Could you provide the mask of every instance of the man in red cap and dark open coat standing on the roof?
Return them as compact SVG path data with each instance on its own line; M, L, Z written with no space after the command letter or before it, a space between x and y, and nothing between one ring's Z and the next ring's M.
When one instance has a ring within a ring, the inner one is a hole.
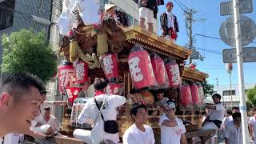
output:
M167 2L166 12L162 13L160 16L162 37L166 38L166 40L170 40L171 42L174 42L176 38L178 38L179 31L177 17L171 12L173 7L173 2Z

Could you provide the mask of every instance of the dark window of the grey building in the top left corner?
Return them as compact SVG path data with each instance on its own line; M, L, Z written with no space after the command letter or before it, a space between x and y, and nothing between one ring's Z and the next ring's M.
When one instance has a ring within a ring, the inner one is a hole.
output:
M0 2L0 30L13 26L15 0Z

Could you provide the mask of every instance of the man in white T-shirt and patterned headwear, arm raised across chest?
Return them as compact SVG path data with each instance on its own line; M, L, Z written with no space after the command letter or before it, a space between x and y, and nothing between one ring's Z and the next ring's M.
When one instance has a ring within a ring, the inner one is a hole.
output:
M181 119L176 118L176 105L173 101L168 100L164 105L164 115L159 119L161 126L161 143L162 144L186 144L186 128Z

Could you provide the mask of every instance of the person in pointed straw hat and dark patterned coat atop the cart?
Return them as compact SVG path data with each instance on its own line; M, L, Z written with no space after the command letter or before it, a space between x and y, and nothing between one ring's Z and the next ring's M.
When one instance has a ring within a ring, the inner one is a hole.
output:
M117 22L117 24L119 26L128 26L128 18L126 13L115 10L116 9L116 5L114 4L106 4L105 5L105 16L104 19L114 19L115 22Z

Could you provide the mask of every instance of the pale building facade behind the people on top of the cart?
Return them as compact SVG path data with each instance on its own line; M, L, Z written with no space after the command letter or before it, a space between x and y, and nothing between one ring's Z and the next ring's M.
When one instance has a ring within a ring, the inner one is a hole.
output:
M130 26L138 26L138 4L133 0L100 0L100 6L103 8L106 3L112 3L118 6L118 10L126 12ZM154 18L154 33L158 34L158 19Z

